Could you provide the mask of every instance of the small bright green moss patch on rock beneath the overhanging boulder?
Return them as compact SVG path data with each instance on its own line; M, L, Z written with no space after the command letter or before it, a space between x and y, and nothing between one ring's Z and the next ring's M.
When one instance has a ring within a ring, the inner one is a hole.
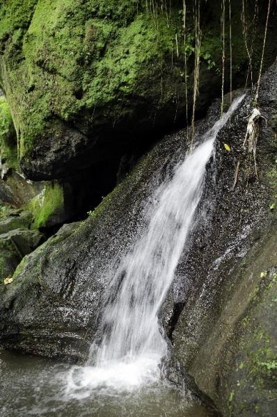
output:
M63 213L63 186L58 181L49 181L45 189L24 206L33 213L34 221L31 229L47 227L49 218Z

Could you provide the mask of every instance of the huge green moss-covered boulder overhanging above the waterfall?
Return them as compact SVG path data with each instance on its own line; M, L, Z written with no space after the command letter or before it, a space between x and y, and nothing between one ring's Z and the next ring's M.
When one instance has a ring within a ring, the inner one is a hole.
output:
M231 3L235 85L244 82L248 57L240 2ZM137 0L0 1L0 85L17 131L19 163L28 177L66 177L186 122L184 51L191 113L195 34L193 5L188 2L184 46L182 4L177 0L155 6ZM252 6L246 10L249 31ZM254 78L267 12L262 2L259 10ZM203 1L201 16L197 108L205 111L221 89L220 2ZM270 24L265 67L276 56L274 33Z

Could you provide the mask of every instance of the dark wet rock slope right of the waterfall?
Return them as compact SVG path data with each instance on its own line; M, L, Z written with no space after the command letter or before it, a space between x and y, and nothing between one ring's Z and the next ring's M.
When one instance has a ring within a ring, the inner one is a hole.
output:
M258 100L267 121L276 111L276 82L274 65L262 79ZM208 174L205 191L212 205L205 206L203 200L209 222L198 223L189 262L180 262L180 279L168 297L170 302L181 294L186 302L172 335L173 352L224 416L274 415L276 409L271 399L277 386L270 368L277 354L270 322L276 320L276 214L270 206L276 199L277 147L274 126L260 120L257 177L253 155L242 148L244 117L251 114L254 98L255 88L219 134L216 179L213 183ZM224 143L231 152L225 151ZM199 254L203 236L208 245Z

